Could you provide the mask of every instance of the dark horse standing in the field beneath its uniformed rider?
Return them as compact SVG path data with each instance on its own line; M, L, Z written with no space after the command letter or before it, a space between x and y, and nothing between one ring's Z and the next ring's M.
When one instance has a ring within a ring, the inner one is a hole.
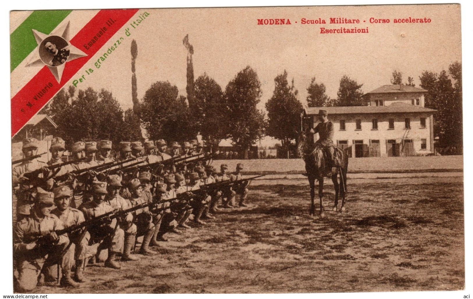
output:
M306 163L307 179L309 180L310 186L310 216L315 215L315 179L319 182L319 198L320 198L320 217L324 217L324 206L322 205L322 196L324 192L324 177L327 176L329 171L325 167L325 154L320 146L315 145L315 149L308 145L306 135L301 132L298 138L298 155L299 158L303 158ZM342 196L342 206L340 211L344 212L345 208L345 196L347 192L347 171L348 171L348 155L340 147L335 146L334 160L338 161L337 166L330 170L330 178L333 181L333 187L335 188L335 203L333 205L333 211L338 210L338 199L339 195Z

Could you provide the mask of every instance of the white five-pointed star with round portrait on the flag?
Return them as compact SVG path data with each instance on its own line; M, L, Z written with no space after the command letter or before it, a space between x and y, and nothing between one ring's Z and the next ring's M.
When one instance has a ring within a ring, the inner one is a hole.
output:
M56 28L47 35L32 29L38 46L27 67L46 65L56 80L61 82L62 72L66 62L87 56L86 53L70 44L69 22L61 28Z

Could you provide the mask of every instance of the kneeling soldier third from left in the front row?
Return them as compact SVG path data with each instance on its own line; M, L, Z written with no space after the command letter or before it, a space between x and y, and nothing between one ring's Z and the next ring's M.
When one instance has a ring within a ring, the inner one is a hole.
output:
M86 220L114 211L113 207L105 202L105 196L108 194L106 182L93 182L92 191L93 200L83 203L79 207ZM118 253L122 252L124 232L120 228L119 223L117 223L117 220L105 221L100 227L90 228L89 232L94 243L102 243L100 245L108 249L105 267L120 269L121 266L115 261L115 257Z

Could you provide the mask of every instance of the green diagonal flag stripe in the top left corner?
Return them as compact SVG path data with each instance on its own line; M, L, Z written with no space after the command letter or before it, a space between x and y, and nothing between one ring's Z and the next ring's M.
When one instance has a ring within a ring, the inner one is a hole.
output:
M50 34L72 10L36 10L10 34L10 73L35 50L37 44L32 29Z

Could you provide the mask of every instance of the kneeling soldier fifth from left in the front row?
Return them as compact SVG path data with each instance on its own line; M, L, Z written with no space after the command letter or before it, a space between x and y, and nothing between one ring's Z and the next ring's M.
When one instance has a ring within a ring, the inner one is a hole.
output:
M151 204L148 198L143 195L143 185L139 179L132 179L129 183L129 189L131 191L131 197L127 199L130 207L143 204ZM149 211L149 207L141 208L133 212L133 222L136 224L137 233L136 236L143 236L143 242L141 243L140 254L150 255L157 254L156 251L149 249L149 243L154 233L153 215Z

